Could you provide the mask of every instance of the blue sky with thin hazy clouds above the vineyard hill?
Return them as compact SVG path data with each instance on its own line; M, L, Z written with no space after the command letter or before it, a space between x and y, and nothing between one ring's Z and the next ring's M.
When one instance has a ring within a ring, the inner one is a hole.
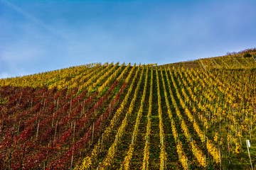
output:
M0 78L256 47L256 1L0 0Z

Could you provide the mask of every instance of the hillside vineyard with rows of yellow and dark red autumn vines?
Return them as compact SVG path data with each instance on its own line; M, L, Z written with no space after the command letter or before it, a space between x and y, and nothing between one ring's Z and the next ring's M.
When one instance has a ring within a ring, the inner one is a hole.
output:
M0 79L0 169L253 169L255 68L225 56Z

